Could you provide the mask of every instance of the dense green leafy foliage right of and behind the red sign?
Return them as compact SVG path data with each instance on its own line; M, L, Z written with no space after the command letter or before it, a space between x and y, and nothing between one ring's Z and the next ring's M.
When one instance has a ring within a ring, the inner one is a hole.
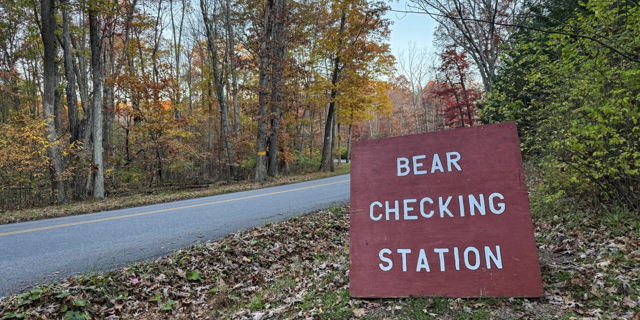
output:
M572 30L640 48L640 6L586 1ZM566 26L558 26L566 31ZM567 195L640 209L640 63L584 37L525 31L483 113L518 122L522 147ZM627 50L627 49L625 49Z

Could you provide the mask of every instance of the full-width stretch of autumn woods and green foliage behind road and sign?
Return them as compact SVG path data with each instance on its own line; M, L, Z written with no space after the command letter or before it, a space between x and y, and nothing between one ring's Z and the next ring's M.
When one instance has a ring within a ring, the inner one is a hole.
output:
M393 53L388 10L1 1L0 208L333 171L353 140L504 120L558 193L638 208L636 1L413 0L434 51Z

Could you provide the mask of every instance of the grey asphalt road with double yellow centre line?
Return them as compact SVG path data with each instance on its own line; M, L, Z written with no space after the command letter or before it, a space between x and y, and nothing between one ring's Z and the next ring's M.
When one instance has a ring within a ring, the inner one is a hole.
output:
M0 296L106 271L349 201L349 175L191 200L0 225Z

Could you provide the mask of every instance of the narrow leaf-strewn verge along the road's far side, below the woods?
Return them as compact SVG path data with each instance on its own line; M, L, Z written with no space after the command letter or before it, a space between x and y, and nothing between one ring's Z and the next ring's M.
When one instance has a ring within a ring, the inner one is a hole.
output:
M140 205L160 204L163 202L200 198L202 196L222 195L225 193L233 193L238 191L281 186L283 184L291 184L295 182L333 177L335 175L349 173L350 171L351 164L343 163L340 166L337 166L335 172L314 172L306 173L303 175L284 175L276 179L268 179L264 182L252 182L250 180L244 180L239 182L215 184L209 186L208 188L201 189L189 189L182 191L156 191L149 194L145 193L127 196L114 196L102 200L86 200L70 204L50 205L47 207L30 208L17 211L0 211L0 225L6 223L41 220L62 216L74 216L76 214L85 214L90 212L125 209L138 207Z

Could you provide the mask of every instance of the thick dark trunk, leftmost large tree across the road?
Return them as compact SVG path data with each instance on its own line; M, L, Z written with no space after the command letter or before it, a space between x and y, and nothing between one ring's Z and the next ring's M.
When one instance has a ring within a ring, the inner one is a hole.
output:
M54 36L54 28L56 22L54 20L55 0L42 0L40 9L42 14L42 44L44 46L44 84L42 94L42 111L47 126L45 127L45 135L49 142L47 147L47 156L53 162L51 168L51 188L56 194L56 202L62 204L65 202L65 184L62 180L63 164L62 154L58 147L58 135L56 134L56 124L54 117L54 100L56 91L56 43Z

